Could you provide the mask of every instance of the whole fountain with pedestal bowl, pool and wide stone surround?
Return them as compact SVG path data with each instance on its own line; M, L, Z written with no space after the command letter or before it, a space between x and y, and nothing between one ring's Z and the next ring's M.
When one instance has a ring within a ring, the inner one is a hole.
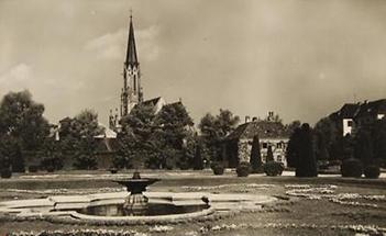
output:
M0 202L0 215L12 221L46 218L69 224L168 224L216 218L217 213L260 209L275 201L275 198L256 194L146 192L146 188L159 179L141 178L137 171L131 179L112 181L124 186L126 191Z

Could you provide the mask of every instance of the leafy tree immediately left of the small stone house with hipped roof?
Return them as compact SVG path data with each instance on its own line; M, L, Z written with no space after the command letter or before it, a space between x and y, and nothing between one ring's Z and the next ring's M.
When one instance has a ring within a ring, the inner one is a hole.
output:
M212 161L222 160L222 142L231 132L233 132L240 122L240 117L233 115L229 110L220 109L220 113L213 116L207 113L201 120L198 127L201 131L203 146L208 149L209 158Z

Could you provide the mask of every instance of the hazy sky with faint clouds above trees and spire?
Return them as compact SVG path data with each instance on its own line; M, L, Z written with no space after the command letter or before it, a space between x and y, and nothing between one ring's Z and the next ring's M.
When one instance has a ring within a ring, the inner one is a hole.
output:
M383 0L0 0L0 98L27 89L53 123L119 108L130 10L145 99L315 123L386 98Z

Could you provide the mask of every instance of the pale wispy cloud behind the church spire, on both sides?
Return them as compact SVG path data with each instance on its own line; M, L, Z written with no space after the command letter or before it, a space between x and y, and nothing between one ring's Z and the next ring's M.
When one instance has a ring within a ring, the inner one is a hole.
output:
M158 32L156 25L134 32L140 59L151 61L158 57L159 47L156 43ZM99 59L122 59L126 50L126 41L128 30L120 29L87 42L85 48L95 53Z

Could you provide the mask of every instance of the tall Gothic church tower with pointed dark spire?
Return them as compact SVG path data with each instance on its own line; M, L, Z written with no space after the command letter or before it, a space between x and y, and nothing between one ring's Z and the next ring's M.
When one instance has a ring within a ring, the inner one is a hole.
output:
M129 41L123 64L123 88L121 91L121 116L128 115L135 104L143 101L140 63L136 56L134 26L130 15Z

